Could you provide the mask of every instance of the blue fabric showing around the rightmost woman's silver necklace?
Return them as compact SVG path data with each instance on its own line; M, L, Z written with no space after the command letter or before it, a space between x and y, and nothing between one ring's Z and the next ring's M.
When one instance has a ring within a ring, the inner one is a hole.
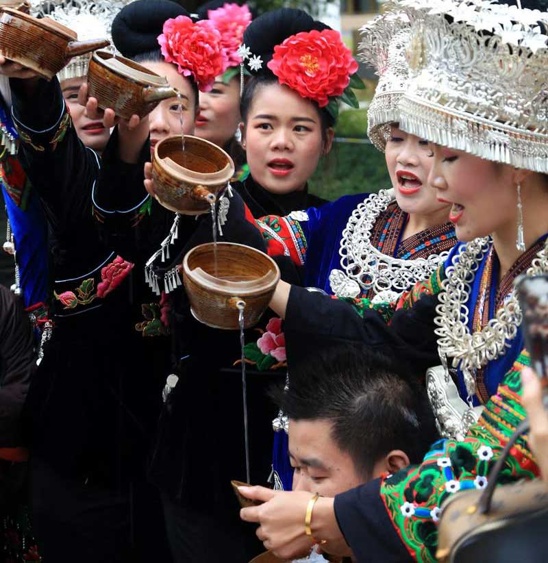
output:
M541 239L544 240L546 235ZM451 249L447 260L445 261L445 268L448 268L453 264L453 256L460 252L460 249L465 245L464 242L459 242L457 245ZM466 303L468 310L469 310L469 319L468 319L468 328L472 331L472 323L473 323L473 312L475 308L475 303L477 299L479 299L479 286L482 281L482 275L484 273L486 264L487 264L487 257L488 253L486 252L484 258L479 264L477 268L477 272L475 273L474 281L471 286L471 292L468 303ZM499 279L499 260L495 254L493 260L493 279ZM497 296L497 286L498 284L492 284L490 288L490 295L489 295L489 318L494 318L496 314L496 296ZM516 358L519 356L520 352L523 350L524 341L523 341L523 334L521 331L521 327L518 329L516 334L516 338L510 342L510 347L508 347L506 353L501 355L496 360L491 360L489 364L484 368L484 384L487 388L489 396L495 395L497 392L497 387L499 383L502 381L504 375L510 368L512 368L512 364L516 361ZM468 393L466 392L466 385L464 384L464 376L462 375L462 371L460 368L457 370L458 373L458 390L460 393L460 397L466 401L466 397ZM479 405L480 402L477 397L474 395L473 397L474 405Z

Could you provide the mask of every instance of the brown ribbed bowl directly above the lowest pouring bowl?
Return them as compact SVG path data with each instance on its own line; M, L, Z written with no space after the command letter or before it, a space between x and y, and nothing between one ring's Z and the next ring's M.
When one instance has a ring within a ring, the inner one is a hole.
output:
M162 139L154 147L152 176L158 201L171 211L187 215L208 212L211 203L234 175L234 162L214 143L184 136Z

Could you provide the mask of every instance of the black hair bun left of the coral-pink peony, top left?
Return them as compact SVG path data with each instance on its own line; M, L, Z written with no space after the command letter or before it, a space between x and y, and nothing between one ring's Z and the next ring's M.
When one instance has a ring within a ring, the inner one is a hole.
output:
M171 0L136 0L122 8L112 22L112 42L125 57L159 51L164 21L190 14Z

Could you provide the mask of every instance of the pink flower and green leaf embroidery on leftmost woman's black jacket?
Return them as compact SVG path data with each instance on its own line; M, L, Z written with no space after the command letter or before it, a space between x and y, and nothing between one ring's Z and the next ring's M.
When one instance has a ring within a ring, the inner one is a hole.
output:
M101 268L101 282L95 290L95 279L88 277L75 291L66 290L60 294L53 292L55 299L60 301L64 309L75 309L78 305L89 305L95 299L104 299L116 289L132 271L134 264L116 256L110 264Z

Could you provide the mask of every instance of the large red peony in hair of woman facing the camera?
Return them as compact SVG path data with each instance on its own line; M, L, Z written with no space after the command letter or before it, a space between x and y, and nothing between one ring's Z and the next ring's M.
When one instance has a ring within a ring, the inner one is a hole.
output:
M303 98L318 102L320 108L330 97L343 95L358 63L334 29L322 32L313 29L288 37L274 47L274 56L267 65L278 77Z

